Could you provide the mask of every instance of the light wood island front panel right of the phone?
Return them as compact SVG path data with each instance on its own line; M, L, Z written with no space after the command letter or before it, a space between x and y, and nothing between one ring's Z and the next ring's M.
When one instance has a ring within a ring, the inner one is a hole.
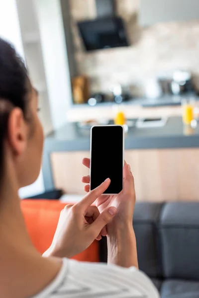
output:
M126 151L137 200L199 200L199 149Z

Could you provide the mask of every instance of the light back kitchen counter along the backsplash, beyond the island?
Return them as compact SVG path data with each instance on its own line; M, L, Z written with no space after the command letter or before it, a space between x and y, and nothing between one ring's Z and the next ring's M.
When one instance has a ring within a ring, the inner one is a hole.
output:
M128 119L151 116L179 117L182 115L181 100L186 97L192 97L196 102L199 100L196 94L190 94L185 97L166 95L158 99L134 98L121 104L114 102L103 102L95 106L77 104L71 105L67 110L66 119L68 122L114 119L118 110L123 111Z

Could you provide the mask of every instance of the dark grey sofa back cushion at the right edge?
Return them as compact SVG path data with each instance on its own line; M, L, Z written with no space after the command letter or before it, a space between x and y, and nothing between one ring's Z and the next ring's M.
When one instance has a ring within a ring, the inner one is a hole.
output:
M168 203L160 220L165 278L199 280L199 203Z

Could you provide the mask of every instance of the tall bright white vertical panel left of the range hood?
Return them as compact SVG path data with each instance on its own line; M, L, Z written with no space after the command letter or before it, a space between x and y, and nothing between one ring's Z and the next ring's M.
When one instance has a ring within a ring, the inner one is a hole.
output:
M34 0L53 128L66 123L72 103L71 79L60 0Z

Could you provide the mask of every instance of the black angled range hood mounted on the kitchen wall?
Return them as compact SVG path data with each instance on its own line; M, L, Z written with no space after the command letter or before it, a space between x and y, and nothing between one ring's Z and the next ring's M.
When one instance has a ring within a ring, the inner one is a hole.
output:
M78 23L85 49L99 49L128 46L123 20L115 14L114 0L96 0L97 15L95 20Z

